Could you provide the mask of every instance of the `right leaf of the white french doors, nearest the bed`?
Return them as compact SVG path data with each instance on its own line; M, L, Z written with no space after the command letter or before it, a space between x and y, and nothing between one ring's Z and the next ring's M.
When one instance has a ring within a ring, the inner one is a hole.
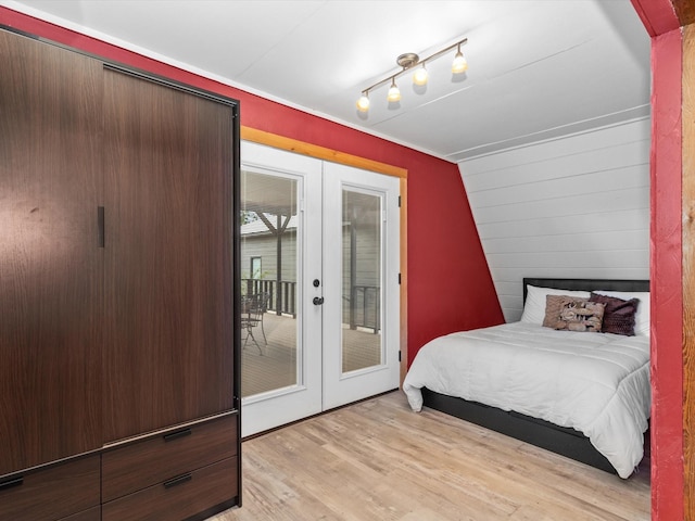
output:
M324 171L324 408L399 386L399 179Z

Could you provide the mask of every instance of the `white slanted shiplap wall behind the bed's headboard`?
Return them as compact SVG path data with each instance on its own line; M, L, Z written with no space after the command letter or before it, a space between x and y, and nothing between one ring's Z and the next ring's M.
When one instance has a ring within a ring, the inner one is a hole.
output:
M649 127L631 120L459 163L506 321L523 277L649 277Z

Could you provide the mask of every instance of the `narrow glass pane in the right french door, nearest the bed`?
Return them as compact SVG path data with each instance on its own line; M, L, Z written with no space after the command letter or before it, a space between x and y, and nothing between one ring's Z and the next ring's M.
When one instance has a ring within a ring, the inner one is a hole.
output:
M381 198L342 192L342 372L382 364Z

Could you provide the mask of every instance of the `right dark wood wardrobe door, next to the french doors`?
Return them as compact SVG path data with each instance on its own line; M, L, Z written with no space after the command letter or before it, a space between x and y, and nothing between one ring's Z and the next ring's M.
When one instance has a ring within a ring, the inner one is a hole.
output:
M106 68L105 441L232 407L233 109Z

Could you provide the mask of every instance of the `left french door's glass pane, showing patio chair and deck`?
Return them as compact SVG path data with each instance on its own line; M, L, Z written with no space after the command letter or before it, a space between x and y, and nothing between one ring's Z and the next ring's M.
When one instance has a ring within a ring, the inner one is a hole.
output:
M298 181L241 173L241 395L300 382Z

